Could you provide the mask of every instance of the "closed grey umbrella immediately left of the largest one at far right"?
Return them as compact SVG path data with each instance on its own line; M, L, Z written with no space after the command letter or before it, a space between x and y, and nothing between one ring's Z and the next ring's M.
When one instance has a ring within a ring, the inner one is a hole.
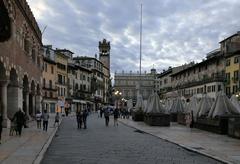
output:
M201 101L199 102L197 117L207 115L212 106L212 100L204 94Z

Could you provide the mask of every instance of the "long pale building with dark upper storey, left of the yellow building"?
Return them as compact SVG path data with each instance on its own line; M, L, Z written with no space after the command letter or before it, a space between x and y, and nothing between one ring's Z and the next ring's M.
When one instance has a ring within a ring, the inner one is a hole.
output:
M219 49L208 53L202 62L172 74L172 91L167 94L190 98L206 93L216 98L217 92L224 90L224 62Z

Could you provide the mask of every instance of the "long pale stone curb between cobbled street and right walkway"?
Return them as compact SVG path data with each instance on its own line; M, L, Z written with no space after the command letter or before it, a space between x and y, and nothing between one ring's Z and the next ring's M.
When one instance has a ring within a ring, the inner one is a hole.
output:
M122 122L121 120L119 120L119 122L121 122L121 123L124 124L125 126L128 126L128 127L133 128L133 129L137 129L137 130L144 131L144 130L142 130L142 129L140 129L140 128L134 127L133 125L129 125L129 124L125 123L125 122ZM199 154L201 154L201 155L207 156L207 157L209 157L209 158L215 159L215 160L217 160L217 161L219 161L219 162L222 162L222 163L225 163L225 164L234 164L234 163L232 163L232 162L230 162L230 161L224 160L224 159L219 158L219 157L214 156L214 155L207 154L207 153L202 152L202 151L197 150L197 149L190 148L190 147L188 147L188 146L186 146L186 145L179 144L179 143L174 142L174 141L171 141L171 140L169 140L169 139L167 139L167 138L159 137L159 136L157 136L157 135L155 135L155 134L152 134L152 133L150 133L150 132L146 132L146 131L144 131L144 132L145 132L146 134L151 135L151 136L160 138L160 139L162 139L162 140L164 140L164 141L167 141L167 142L170 142L170 143L175 144L175 145L177 145L177 146L180 146L180 147L182 147L182 148L184 148L184 149L186 149L186 150L188 150L188 151L195 152L195 153L199 153Z

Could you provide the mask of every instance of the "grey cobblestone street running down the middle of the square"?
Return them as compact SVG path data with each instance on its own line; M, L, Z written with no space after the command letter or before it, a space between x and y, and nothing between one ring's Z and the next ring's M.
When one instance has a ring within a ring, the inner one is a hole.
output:
M42 164L207 164L220 163L142 131L88 117L88 129L76 128L75 117L64 118Z

